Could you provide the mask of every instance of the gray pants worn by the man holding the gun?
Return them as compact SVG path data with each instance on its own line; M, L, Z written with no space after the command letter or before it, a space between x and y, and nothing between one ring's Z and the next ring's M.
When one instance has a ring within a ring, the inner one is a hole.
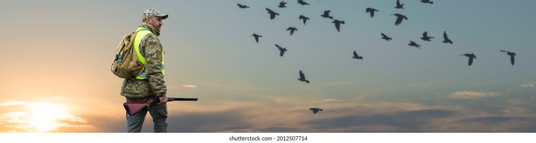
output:
M147 101L150 97L129 98L126 97L126 102L133 101ZM125 133L139 133L142 131L143 122L145 121L145 115L147 111L153 117L154 132L166 133L167 132L167 104L159 104L154 106L151 104L149 108L139 111L137 114L130 116L126 113L126 127Z

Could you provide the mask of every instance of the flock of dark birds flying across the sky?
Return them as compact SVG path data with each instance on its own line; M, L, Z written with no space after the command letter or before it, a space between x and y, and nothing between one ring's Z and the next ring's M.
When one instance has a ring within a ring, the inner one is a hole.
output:
M428 4L434 4L434 2L430 1L430 0L421 0L420 2L422 3L428 3ZM301 4L301 5L310 5L309 3L307 2L304 2L303 0L297 0L297 3ZM284 7L287 7L286 6L287 2L285 1L281 1L278 5L278 7L280 8L284 8ZM246 9L246 8L250 8L249 6L247 5L244 5L244 4L237 4L241 9ZM396 1L396 5L394 6L395 9L404 9L404 4L401 4L400 3L400 0L397 0ZM269 9L269 8L265 8L267 13L269 13L270 15L270 19L274 19L276 18L277 16L279 16L279 13ZM335 28L337 29L337 32L340 32L340 25L341 24L345 24L344 20L338 20L338 19L334 19L333 16L330 16L330 10L325 10L323 12L323 14L321 14L320 16L323 17L323 18L329 18L329 19L333 19L332 23L334 24ZM366 13L370 13L370 17L373 18L374 17L374 13L375 12L379 12L378 10L376 9L373 9L373 8L370 8L370 7L367 7L367 9L365 10ZM394 25L397 26L397 25L400 25L402 23L403 20L408 20L408 18L403 15L403 14L399 14L399 13L394 13L394 14L390 14L391 16L396 16L396 20L394 22ZM307 20L310 20L308 17L306 16L303 16L303 15L300 15L298 17L300 20L303 21L303 25L306 25L307 23ZM287 28L287 31L290 31L290 35L292 36L294 34L295 31L297 31L297 28L295 27L288 27ZM391 37L385 35L384 33L381 33L382 37L381 39L384 39L386 41L389 41L389 40L392 40ZM259 42L259 37L262 37L262 35L258 35L256 33L254 33L252 36L255 37L255 41L258 43ZM431 41L431 39L434 39L434 37L431 37L431 36L428 36L428 32L424 32L422 33L422 37L420 38L421 40L423 41ZM447 36L446 34L446 31L443 32L443 43L450 43L452 44L452 40L449 39L449 37ZM420 44L417 44L416 42L414 41L410 41L410 43L408 43L409 46L412 46L412 47L416 47L416 48L419 48L420 49ZM285 51L287 51L286 48L283 48L281 46L279 46L278 44L275 44L275 46L278 48L278 50L280 51L280 56L282 57L284 54L285 54ZM510 56L510 62L511 64L513 65L514 64L514 56L516 56L516 54L514 52L510 52L510 51L504 51L504 50L500 50L502 52L507 52L507 55ZM463 54L463 55L460 55L460 56L466 56L468 57L468 65L471 66L473 64L473 60L477 58L477 56L475 56L473 53L471 54ZM358 53L354 50L353 52L353 57L352 58L355 58L355 59L363 59L362 56L359 56ZM307 80L305 78L305 74L300 70L299 72L299 76L300 78L298 78L299 81L303 81L303 82L307 82L309 83L310 81ZM323 109L319 109L319 108L309 108L309 110L312 110L314 114L316 114L318 111L323 111Z

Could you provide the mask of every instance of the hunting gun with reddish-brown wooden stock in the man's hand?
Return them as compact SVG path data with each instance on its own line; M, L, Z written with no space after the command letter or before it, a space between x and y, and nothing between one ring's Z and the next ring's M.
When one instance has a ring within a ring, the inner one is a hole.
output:
M169 101L197 101L197 98L181 98L181 97L168 97ZM157 96L152 97L147 101L135 101L135 102L125 102L123 106L125 107L126 112L132 116L137 114L140 110L148 108L149 104L157 105L160 102L160 99Z

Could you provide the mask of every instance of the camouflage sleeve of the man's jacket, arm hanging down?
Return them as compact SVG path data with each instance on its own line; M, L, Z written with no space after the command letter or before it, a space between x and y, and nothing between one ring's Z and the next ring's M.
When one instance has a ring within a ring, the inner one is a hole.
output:
M145 71L149 85L155 95L165 95L167 87L162 75L162 44L154 34L147 34L142 41L145 46Z

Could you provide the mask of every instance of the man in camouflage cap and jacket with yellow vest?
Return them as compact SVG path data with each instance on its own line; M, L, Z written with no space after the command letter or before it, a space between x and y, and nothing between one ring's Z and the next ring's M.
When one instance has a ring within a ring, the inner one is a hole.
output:
M135 78L126 78L121 86L121 95L126 97L126 102L147 101L151 97L158 96L158 105L151 104L149 108L139 111L130 116L126 114L125 132L140 132L147 111L151 114L154 122L154 132L167 132L167 87L163 80L164 76L164 52L162 44L157 36L160 35L162 20L168 18L157 9L145 10L142 23L137 29L138 33L134 40L134 46L138 58L144 64L143 73Z

